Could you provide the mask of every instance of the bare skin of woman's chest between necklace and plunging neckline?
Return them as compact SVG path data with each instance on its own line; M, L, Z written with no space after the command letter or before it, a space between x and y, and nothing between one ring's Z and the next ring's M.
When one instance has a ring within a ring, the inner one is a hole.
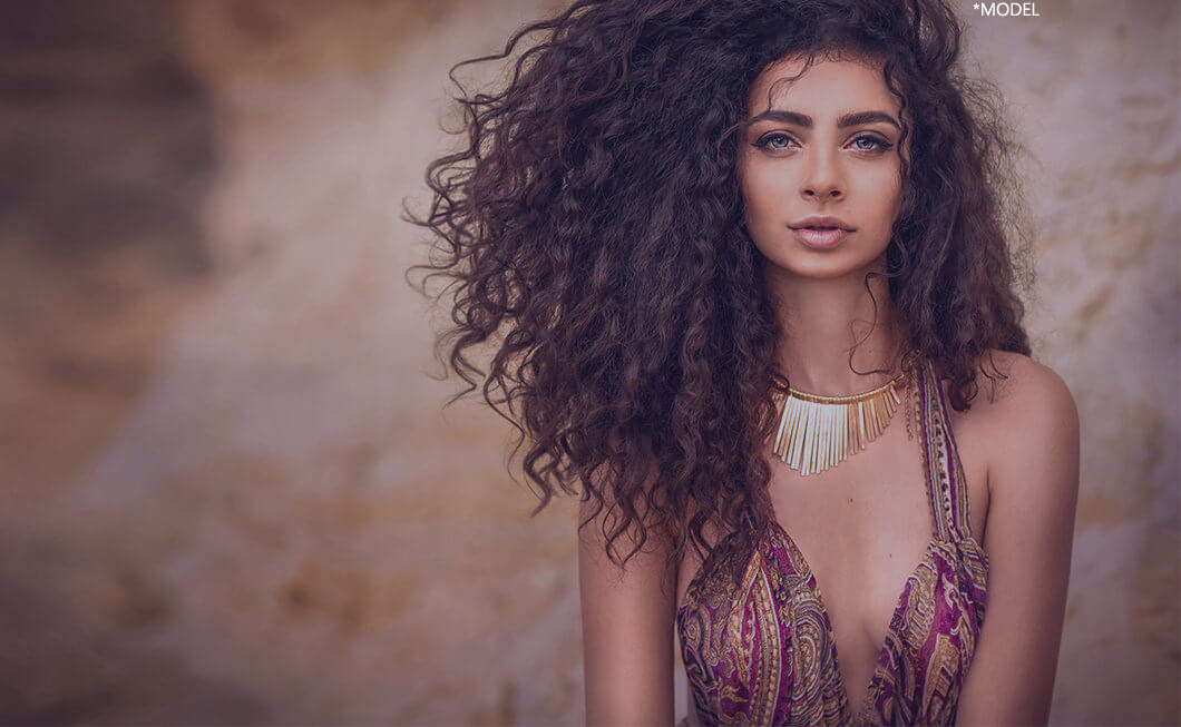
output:
M837 693L850 701L870 699L880 686L880 657L889 647L899 609L909 610L913 595L907 594L919 587L915 578L932 572L931 549L941 546L941 533L946 537L953 519L941 499L952 491L950 476L954 490L966 495L960 528L984 544L988 437L976 418L941 411L950 437L932 439L934 419L926 437L918 423L899 423L837 466L809 476L774 457L770 446L764 451L777 530L792 554L794 570L813 583L808 595L828 622L829 641L840 643L834 679L841 685ZM696 554L685 561L678 604L702 566ZM929 601L927 605L933 608Z

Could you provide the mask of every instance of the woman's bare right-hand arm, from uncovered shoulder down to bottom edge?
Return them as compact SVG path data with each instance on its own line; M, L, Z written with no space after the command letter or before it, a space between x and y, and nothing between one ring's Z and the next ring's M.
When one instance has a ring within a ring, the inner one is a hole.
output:
M988 596L958 723L1046 723L1078 499L1078 411L1062 379L1012 356L991 413Z

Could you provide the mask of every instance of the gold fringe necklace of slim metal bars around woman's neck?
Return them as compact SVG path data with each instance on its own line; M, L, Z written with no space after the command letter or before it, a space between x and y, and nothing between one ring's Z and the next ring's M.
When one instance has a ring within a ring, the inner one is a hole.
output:
M903 367L902 373L873 391L822 397L796 391L779 375L771 374L771 399L779 414L775 454L801 474L823 472L844 461L882 433L902 402L898 389L909 375L911 371Z

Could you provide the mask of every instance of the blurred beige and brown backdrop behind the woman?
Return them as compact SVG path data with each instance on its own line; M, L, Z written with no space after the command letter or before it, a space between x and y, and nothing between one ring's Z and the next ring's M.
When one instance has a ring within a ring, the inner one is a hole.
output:
M1181 5L957 1L1082 417L1051 721L1176 723ZM441 410L398 218L563 5L0 1L0 720L582 721L574 503Z

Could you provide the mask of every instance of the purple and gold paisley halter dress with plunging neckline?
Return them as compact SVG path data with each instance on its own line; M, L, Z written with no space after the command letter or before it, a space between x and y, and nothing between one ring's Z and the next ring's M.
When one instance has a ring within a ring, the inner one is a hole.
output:
M964 471L931 361L916 367L916 384L934 537L899 596L864 700L849 703L816 578L772 517L763 536L723 537L677 609L704 725L954 722L984 621L988 558L971 537Z

